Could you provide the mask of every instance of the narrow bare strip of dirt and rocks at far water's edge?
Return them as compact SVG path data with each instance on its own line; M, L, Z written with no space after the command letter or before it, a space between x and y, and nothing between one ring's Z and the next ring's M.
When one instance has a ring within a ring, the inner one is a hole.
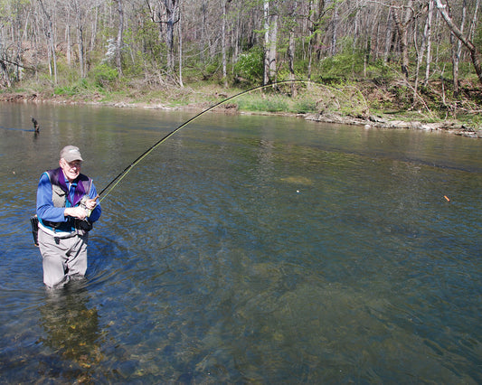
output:
M99 107L113 108L146 108L146 109L164 109L168 111L194 111L196 113L203 112L206 108L205 102L188 104L182 107L167 106L162 103L146 103L146 102L128 102L128 101L111 101L103 102L99 100L73 100L68 98L53 97L42 98L38 94L0 94L0 102L5 103L32 103L32 104L60 104L60 105L90 105ZM368 118L342 116L333 112L327 113L291 113L291 112L269 112L269 111L240 111L236 105L227 104L213 108L211 112L224 114L245 114L245 115L265 115L265 116L286 116L300 117L307 120L328 123L341 124L348 126L364 126L370 128L386 128L386 129L418 129L422 131L441 131L457 136L465 136L471 138L482 138L482 127L475 130L472 127L466 127L457 120L445 120L438 123L423 123L418 120L404 121L402 119L390 119L388 117L370 116Z

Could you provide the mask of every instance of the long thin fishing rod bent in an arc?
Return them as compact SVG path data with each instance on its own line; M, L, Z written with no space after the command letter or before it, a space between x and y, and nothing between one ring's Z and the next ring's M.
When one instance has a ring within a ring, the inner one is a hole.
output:
M101 192L99 192L99 196L100 196L100 199L99 199L99 202L102 202L105 198L107 198L109 196L109 193L114 190L116 188L116 186L118 185L118 183L120 183L120 181L122 181L122 179L124 179L126 177L126 175L139 163L141 162L147 155L149 155L150 153L152 153L158 146L160 146L163 142L165 142L165 140L171 136L173 136L177 131L179 131L181 128L184 128L186 127L189 123L191 123L192 121L194 121L195 119L197 119L198 117L201 117L203 114L205 114L206 112L209 112L211 111L213 108L216 108L218 106L221 106L222 104L232 100L232 99L236 99L236 98L239 98L241 97L241 95L244 95L244 94L247 94L249 92L252 92L256 89L265 89L265 88L268 88L268 87L275 87L277 85L280 85L280 84L287 84L287 83L315 83L315 81L313 80L281 80L281 81L277 81L277 82L274 82L274 83L269 83L269 84L265 84L265 85L261 85L261 86L256 86L256 87L253 87L251 89L247 89L247 90L244 90L236 95L233 95L232 97L229 97L229 98L226 98L226 99L223 99L221 101L219 101L218 103L215 103L213 104L213 106L209 107L209 108L206 108L204 109L203 111L201 111L199 114L195 115L194 117L191 117L190 119L186 120L181 126L175 128L173 131L171 131L169 134L165 135L164 137L162 137L161 139L159 139L153 146L150 146L149 148L146 149L146 151L144 153L142 153L141 155L137 156L137 159L132 162L131 164L129 164L121 173L119 173L114 179L112 179L112 181L110 181L108 183L108 185L106 187L104 187L102 189ZM105 192L105 194L104 194Z

